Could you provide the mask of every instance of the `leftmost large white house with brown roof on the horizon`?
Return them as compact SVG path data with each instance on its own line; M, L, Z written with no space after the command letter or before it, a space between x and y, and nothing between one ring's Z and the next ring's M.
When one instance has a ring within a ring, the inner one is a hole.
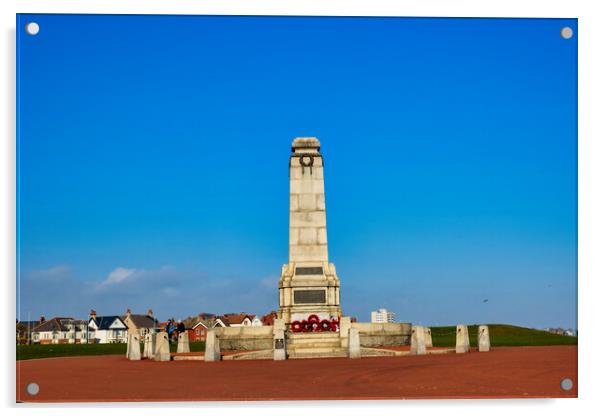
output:
M55 317L37 325L31 332L35 344L84 344L88 342L87 322Z

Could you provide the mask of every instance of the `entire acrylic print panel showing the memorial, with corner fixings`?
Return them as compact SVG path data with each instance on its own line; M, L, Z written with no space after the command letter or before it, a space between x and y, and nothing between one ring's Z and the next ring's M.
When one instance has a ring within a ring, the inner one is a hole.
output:
M576 19L17 28L18 401L577 396Z

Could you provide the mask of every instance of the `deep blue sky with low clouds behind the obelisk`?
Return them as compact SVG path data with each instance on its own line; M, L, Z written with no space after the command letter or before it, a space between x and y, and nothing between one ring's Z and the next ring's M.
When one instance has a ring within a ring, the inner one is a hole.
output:
M346 315L576 327L564 26L18 16L18 316L277 309L317 136Z

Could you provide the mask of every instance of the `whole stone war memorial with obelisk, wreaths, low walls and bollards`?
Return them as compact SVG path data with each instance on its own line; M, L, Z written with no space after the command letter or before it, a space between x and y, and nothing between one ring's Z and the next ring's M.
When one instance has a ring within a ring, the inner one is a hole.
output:
M324 156L320 141L315 137L295 138L288 170L289 258L282 266L278 284L278 319L273 326L213 328L207 337L204 356L197 359L285 360L429 353L433 347L429 328L410 323L351 322L343 314L341 282L328 257ZM489 332L485 328L480 333L483 334L480 350L487 351ZM171 359L164 337L149 334L146 338L143 357L157 361ZM455 350L430 353L468 352L470 343L465 325L457 327L456 339ZM187 353L187 344L187 339L179 340L178 353ZM410 349L391 349L403 346ZM225 352L231 354L223 355ZM128 348L128 358L140 357L136 347Z

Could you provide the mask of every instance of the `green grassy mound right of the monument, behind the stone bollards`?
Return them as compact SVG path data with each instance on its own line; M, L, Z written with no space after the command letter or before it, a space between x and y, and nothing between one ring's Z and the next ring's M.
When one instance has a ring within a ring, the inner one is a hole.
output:
M477 325L468 326L470 345L477 346ZM454 347L456 327L431 327L434 347ZM535 345L577 345L577 337L551 334L547 331L523 328L513 325L489 324L489 338L492 347L517 347Z

